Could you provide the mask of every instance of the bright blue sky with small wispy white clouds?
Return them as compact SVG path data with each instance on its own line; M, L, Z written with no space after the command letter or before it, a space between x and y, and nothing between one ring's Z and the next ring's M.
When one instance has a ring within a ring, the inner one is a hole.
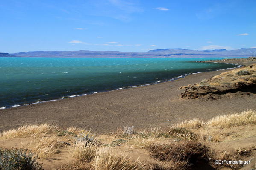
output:
M256 0L1 0L0 52L256 48Z

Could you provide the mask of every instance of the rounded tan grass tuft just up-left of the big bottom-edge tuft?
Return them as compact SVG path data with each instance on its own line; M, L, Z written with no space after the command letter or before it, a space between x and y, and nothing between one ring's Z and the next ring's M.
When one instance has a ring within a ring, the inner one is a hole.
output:
M71 154L74 158L77 158L79 161L91 161L95 156L98 148L98 143L95 142L86 142L78 141L74 144L74 147L71 150Z

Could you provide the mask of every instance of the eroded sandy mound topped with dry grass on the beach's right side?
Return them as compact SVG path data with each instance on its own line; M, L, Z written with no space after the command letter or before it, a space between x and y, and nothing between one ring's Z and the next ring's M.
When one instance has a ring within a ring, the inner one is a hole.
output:
M256 64L223 72L193 86L182 86L179 89L185 89L181 98L191 99L219 99L221 95L238 91L256 93Z

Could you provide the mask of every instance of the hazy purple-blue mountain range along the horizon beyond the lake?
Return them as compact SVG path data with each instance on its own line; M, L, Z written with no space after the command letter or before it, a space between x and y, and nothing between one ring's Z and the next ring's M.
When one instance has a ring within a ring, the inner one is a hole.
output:
M18 52L13 54L0 53L0 57L250 57L256 55L255 49L156 49L148 52L119 52L119 51L34 51Z

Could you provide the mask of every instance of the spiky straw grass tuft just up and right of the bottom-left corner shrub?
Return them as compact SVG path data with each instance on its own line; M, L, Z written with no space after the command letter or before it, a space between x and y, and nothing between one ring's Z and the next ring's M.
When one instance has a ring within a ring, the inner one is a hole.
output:
M48 158L53 154L59 153L59 139L54 135L34 136L29 148L41 158Z

